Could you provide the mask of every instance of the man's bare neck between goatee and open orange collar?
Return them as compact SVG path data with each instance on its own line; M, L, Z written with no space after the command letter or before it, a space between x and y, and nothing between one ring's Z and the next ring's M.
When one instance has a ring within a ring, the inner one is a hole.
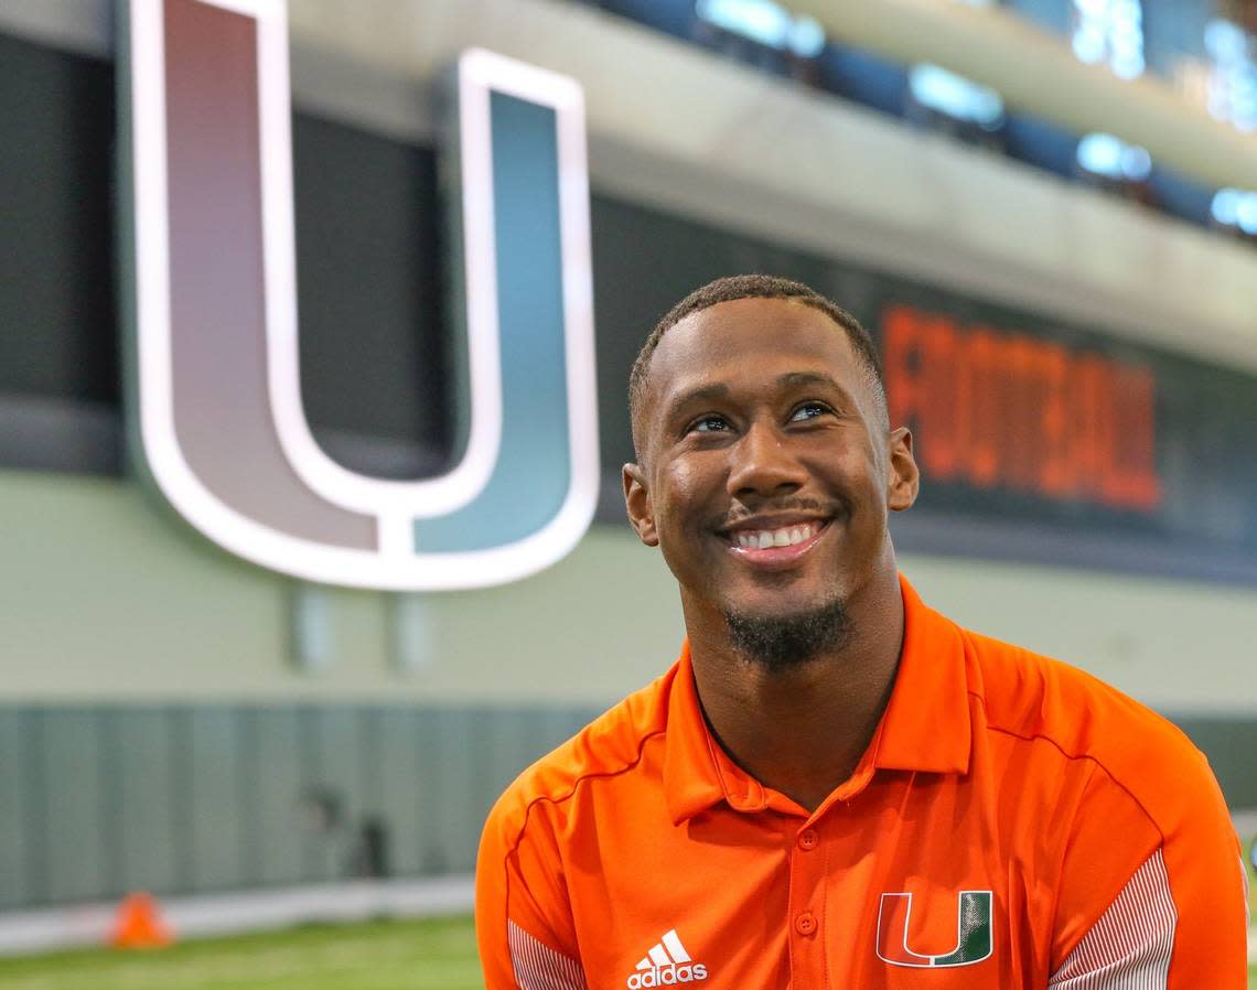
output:
M716 740L759 783L810 812L856 769L899 667L897 574L879 577L847 607L851 634L837 648L779 671L739 655L723 619L686 609L694 678Z

